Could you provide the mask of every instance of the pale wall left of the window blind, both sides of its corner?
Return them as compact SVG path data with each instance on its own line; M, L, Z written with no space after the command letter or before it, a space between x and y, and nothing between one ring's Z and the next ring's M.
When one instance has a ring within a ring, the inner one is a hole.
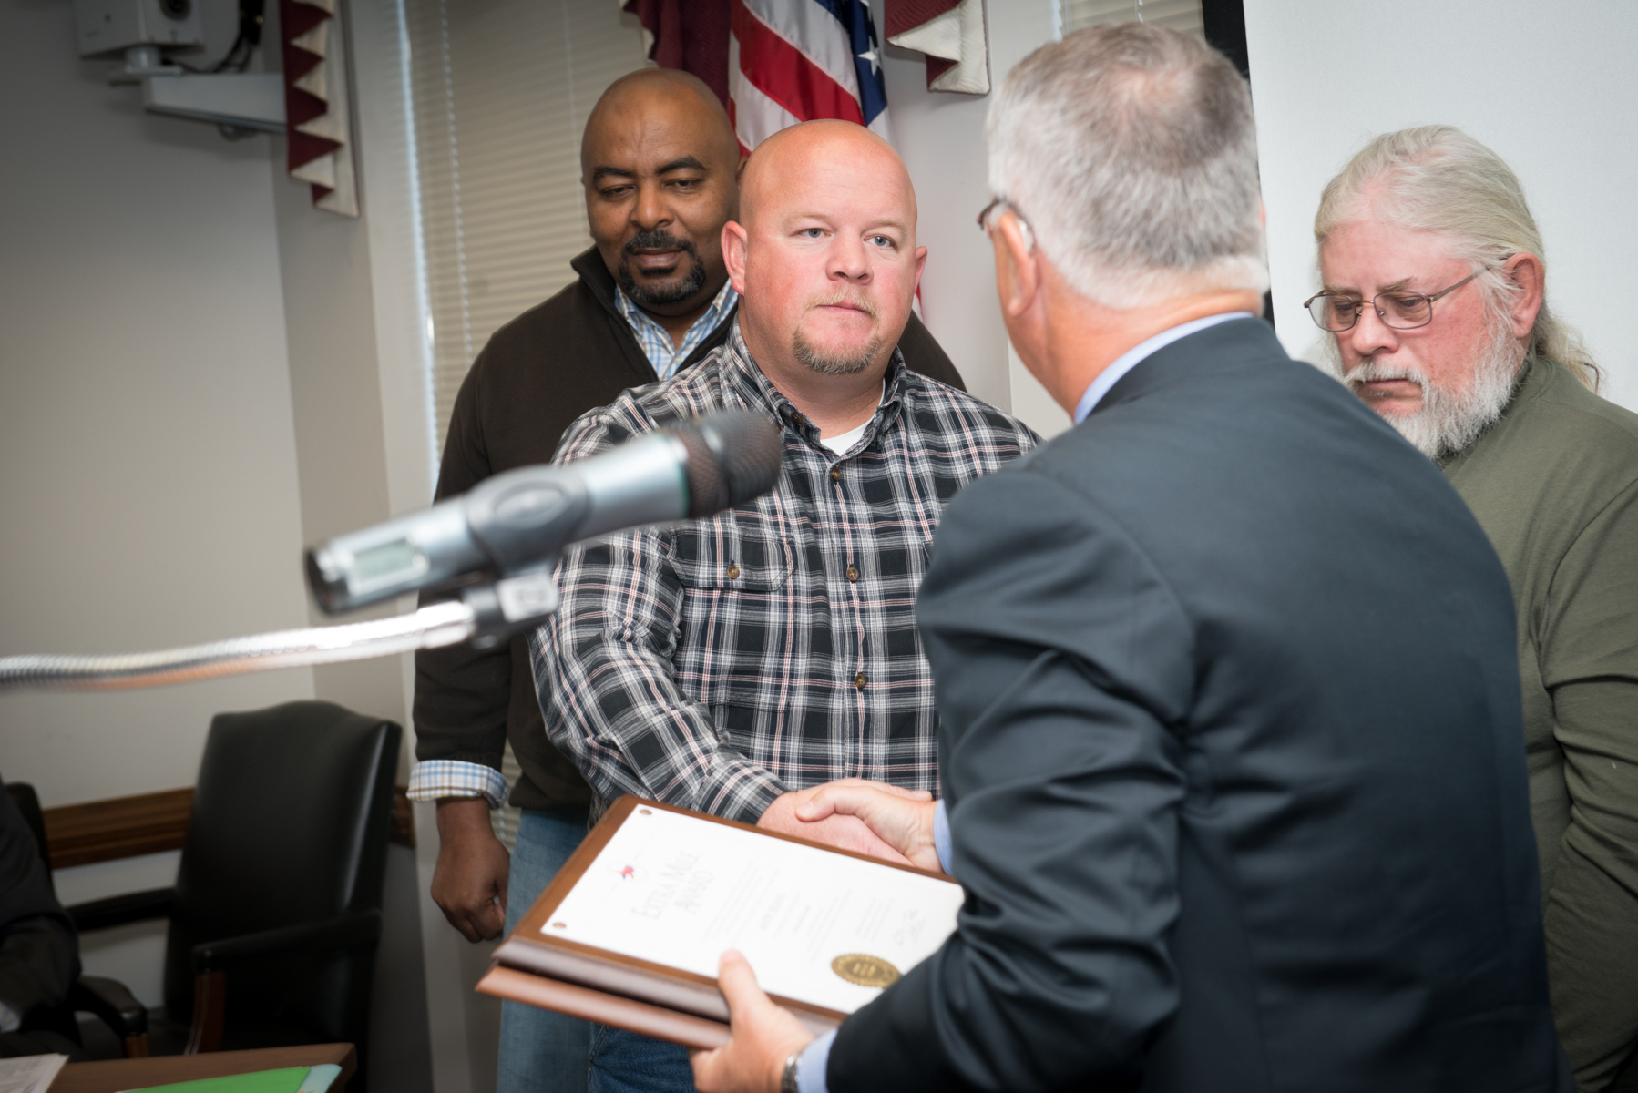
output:
M197 61L221 56L236 23L233 0L201 8ZM395 48L391 0L357 8ZM362 59L391 87L388 54ZM0 7L0 66L28 88L0 105L0 655L318 621L303 542L431 497L403 187L380 187L383 226L311 210L280 141L146 115L139 88L106 85L108 62L79 62L70 0ZM408 177L391 118L373 149L365 203L372 167ZM406 670L5 695L0 773L46 806L192 785L211 714L326 698L406 724ZM59 895L162 887L175 865L170 852L59 870ZM414 852L390 847L370 1062L373 1085L403 1093L432 1088L416 873ZM82 939L88 972L149 1005L162 949L162 923Z

